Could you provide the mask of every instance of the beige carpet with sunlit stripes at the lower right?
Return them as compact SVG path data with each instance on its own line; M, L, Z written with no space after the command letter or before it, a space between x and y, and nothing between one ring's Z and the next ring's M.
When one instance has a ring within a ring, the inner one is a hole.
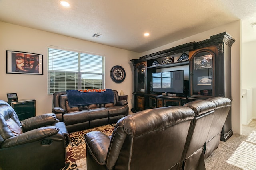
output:
M220 141L205 160L206 170L256 170L256 120L242 125L242 136L232 135Z

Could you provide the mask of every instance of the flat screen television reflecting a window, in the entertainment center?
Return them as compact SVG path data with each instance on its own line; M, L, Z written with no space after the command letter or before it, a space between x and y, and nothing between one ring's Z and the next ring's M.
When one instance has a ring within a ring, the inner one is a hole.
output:
M152 91L172 94L184 92L184 70L152 73Z

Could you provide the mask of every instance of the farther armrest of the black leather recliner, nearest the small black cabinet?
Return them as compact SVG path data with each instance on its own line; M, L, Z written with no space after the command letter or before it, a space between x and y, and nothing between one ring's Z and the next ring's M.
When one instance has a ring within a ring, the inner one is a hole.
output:
M48 113L44 115L39 115L35 117L30 117L28 119L20 121L22 124L23 131L30 131L38 127L43 127L46 125L52 125L56 122L56 115L54 113Z

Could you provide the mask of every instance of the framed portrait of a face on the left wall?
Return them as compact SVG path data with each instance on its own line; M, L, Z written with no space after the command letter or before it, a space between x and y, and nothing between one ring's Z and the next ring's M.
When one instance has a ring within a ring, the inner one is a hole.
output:
M43 55L6 50L6 73L43 75Z

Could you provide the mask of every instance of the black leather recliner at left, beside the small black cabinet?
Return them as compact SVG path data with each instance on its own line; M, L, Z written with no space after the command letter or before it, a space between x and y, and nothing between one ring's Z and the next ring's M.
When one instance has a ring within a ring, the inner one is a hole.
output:
M65 166L65 124L53 113L19 121L0 100L0 170L57 170Z

